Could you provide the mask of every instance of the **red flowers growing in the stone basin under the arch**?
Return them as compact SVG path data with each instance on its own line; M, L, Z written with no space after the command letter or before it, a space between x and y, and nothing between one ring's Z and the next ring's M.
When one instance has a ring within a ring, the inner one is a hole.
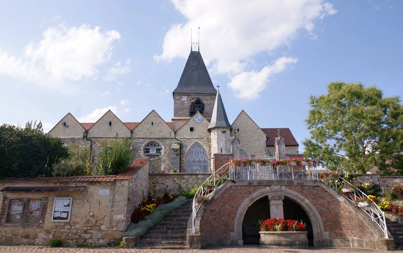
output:
M271 218L260 223L260 231L306 231L306 224L297 220Z

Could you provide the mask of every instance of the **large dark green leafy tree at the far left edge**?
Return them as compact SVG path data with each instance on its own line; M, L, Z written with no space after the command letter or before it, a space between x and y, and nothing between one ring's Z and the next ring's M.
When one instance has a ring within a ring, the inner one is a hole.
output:
M58 137L45 134L42 123L0 125L0 178L52 176L52 165L68 155Z

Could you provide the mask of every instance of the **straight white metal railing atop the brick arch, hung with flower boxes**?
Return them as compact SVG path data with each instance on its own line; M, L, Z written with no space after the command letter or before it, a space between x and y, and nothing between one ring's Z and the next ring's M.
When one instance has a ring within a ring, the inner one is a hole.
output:
M291 162L290 165L296 166ZM232 180L283 180L283 179L305 179L318 180L318 169L308 162L302 162L301 167L272 166L255 163L251 166L231 166L230 178Z

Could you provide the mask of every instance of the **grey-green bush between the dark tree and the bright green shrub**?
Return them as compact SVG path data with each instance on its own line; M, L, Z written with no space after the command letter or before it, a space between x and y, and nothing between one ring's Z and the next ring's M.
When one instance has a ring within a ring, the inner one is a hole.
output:
M67 146L69 156L60 159L53 165L53 176L91 176L93 175L91 153L89 146L82 145L80 141L73 142Z

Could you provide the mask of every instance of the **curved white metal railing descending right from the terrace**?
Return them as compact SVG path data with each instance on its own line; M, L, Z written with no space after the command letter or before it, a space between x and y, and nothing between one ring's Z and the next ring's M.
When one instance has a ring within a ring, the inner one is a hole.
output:
M378 205L372 201L372 199L370 205L364 202L362 205L360 205L360 202L356 202L359 199L370 199L364 192L361 192L359 189L349 187L350 185L352 186L352 184L340 176L336 180L331 180L331 182L327 181L325 183L337 192L341 191L339 192L341 196L354 205L357 205L357 207L359 207L361 210L365 211L366 214L372 218L372 221L378 224L378 226L384 232L385 238L389 238L384 211L382 211Z

